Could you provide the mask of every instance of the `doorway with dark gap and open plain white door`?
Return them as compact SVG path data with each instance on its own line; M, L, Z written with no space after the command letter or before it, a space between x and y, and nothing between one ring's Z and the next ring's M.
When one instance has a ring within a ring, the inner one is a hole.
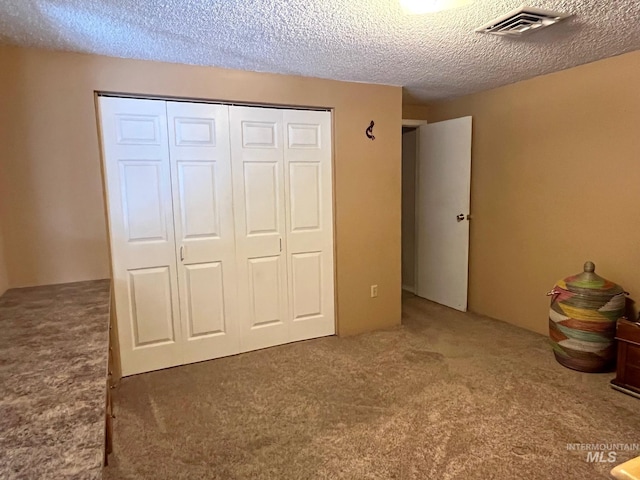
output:
M402 289L467 309L471 117L402 122Z

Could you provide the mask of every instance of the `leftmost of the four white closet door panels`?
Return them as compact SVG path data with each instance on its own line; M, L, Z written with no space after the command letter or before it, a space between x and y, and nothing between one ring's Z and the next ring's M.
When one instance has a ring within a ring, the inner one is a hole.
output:
M180 365L165 102L99 105L122 374Z

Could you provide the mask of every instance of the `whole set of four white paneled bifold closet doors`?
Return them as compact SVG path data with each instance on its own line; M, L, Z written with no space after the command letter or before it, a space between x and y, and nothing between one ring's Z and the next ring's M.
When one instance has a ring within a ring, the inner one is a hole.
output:
M329 112L100 110L123 375L335 333Z

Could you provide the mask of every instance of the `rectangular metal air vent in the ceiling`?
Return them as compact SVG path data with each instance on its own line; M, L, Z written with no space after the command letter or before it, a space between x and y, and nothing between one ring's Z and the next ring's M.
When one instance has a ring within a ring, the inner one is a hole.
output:
M540 8L520 7L476 28L476 32L519 37L558 23L570 16L567 13L550 12Z

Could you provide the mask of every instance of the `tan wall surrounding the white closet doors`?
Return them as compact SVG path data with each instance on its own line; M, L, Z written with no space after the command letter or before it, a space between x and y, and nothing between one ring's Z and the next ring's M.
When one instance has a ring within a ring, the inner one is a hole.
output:
M109 275L94 91L328 107L339 332L400 322L401 88L14 47L0 66L12 286Z

